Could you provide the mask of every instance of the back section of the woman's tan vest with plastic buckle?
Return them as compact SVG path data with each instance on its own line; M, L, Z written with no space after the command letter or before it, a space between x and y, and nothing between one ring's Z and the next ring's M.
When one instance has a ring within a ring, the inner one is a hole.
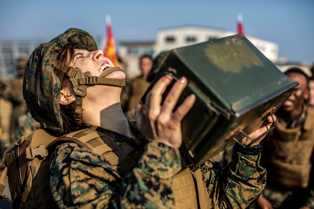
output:
M21 137L5 151L7 167L1 176L0 193L8 169L13 208L57 208L48 185L51 155L45 149L56 138L48 130L38 129Z

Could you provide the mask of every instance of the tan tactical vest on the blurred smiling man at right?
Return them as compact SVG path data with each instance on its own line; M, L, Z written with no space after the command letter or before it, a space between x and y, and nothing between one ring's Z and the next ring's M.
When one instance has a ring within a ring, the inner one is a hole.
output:
M309 184L314 148L314 108L309 106L303 126L286 129L285 122L263 140L261 165L267 180L287 188L306 188ZM275 152L274 152L275 151Z

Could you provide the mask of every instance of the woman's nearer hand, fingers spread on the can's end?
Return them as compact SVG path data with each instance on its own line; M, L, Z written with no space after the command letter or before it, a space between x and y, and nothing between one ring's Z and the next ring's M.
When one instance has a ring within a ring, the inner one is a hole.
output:
M161 105L162 94L172 79L170 75L160 78L147 94L145 105L138 103L134 114L138 129L145 137L179 148L182 144L181 121L192 108L195 95L188 96L173 112L183 89L187 86L187 79L182 77L174 83Z

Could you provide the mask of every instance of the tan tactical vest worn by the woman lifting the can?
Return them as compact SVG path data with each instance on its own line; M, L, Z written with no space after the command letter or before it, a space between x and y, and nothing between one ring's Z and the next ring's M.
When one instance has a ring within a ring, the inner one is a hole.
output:
M79 147L86 147L100 154L122 176L137 165L142 155L142 152L137 152L127 143L116 142L114 138L98 131L83 129L57 138L47 130L39 129L8 147L4 156L6 169L9 169L8 182L13 208L57 207L48 185L49 161L55 147L65 142L76 143ZM4 189L6 169L1 176L0 193ZM211 205L200 169L193 175L189 168L176 174L172 188L176 208L198 208L196 190L200 208L209 208Z

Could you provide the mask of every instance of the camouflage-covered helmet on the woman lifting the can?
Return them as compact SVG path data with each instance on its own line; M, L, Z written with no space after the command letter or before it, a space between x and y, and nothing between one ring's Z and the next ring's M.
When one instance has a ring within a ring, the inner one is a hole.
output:
M97 50L95 40L89 33L70 28L38 46L30 55L24 74L23 96L30 114L42 127L60 134L64 132L59 107L60 81L53 60L57 59L65 45L73 42L78 42L84 50Z

